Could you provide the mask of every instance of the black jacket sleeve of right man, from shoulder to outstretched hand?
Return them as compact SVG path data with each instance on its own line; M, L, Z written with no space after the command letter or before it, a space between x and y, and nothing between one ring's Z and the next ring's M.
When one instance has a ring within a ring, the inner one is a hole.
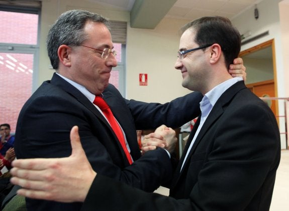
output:
M82 210L268 210L280 159L280 139L274 116L264 108L232 109L228 118L219 121L218 132L207 133L215 137L209 146L213 149L199 173L190 171L182 178L188 181L191 175L198 177L185 197L147 193L97 175ZM262 204L260 198L265 199Z

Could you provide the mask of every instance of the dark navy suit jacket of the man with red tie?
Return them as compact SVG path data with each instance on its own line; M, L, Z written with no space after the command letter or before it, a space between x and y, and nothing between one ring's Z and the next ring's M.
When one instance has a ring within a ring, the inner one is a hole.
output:
M16 128L17 158L59 158L71 154L69 132L78 125L81 143L92 168L145 191L155 190L170 179L169 157L163 149L141 157L136 128L152 129L166 124L176 128L198 116L200 93L192 93L170 103L125 100L109 85L104 99L121 124L131 155L129 165L112 128L89 100L75 87L54 74L23 106ZM56 203L27 199L29 210L79 210L81 203Z

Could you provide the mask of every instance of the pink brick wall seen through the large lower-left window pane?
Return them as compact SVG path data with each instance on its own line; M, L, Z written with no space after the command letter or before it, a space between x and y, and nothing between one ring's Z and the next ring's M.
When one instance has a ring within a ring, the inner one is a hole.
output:
M32 66L33 55L0 53L0 122L9 123L12 132L15 132L22 106L31 96Z

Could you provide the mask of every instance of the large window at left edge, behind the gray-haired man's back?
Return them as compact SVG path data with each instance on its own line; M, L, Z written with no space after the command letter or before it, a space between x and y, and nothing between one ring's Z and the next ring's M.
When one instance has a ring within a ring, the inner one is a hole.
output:
M17 118L32 94L38 61L39 9L0 7L0 123L15 132Z

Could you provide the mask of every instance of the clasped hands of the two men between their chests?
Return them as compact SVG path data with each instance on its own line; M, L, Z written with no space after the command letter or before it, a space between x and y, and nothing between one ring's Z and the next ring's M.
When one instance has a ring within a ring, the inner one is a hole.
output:
M149 150L155 150L157 147L166 149L169 153L172 153L175 148L177 138L175 131L165 125L161 125L156 130L148 135L144 136L142 140L142 154L145 154Z

